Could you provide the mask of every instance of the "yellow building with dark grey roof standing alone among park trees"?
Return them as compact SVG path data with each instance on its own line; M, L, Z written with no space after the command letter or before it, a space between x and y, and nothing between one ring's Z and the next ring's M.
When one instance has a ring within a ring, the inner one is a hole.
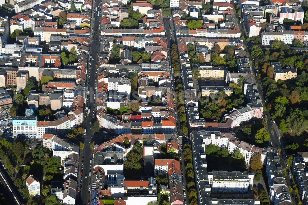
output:
M288 80L297 77L297 69L291 69L290 67L282 68L280 62L271 62L271 66L274 67L274 79Z

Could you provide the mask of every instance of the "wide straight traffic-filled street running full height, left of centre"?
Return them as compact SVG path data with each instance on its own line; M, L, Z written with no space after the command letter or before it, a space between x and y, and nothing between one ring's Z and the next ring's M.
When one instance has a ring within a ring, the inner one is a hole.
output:
M92 185L91 183L91 176L89 175L91 171L90 160L92 159L93 150L90 148L90 145L93 140L93 133L91 131L91 126L95 122L96 116L96 107L95 107L95 76L96 76L96 68L97 63L99 61L99 44L100 44L100 16L97 16L97 12L100 11L98 8L95 10L95 7L99 7L99 0L93 1L93 11L92 11L92 19L91 19L91 41L89 45L89 54L88 54L88 62L91 62L91 65L88 65L87 70L87 89L89 90L89 94L87 95L87 104L86 107L90 110L90 115L85 116L84 120L84 127L87 131L87 134L84 136L84 148L80 151L80 166L81 167L81 158L83 158L83 180L81 187L81 201L79 204L87 204L89 200L91 200L91 191ZM92 40L93 39L93 40ZM90 58L91 56L91 58ZM85 115L87 114L84 112ZM79 169L81 170L81 169ZM80 172L79 172L80 177ZM90 187L90 188L89 188ZM90 192L89 192L90 189Z

